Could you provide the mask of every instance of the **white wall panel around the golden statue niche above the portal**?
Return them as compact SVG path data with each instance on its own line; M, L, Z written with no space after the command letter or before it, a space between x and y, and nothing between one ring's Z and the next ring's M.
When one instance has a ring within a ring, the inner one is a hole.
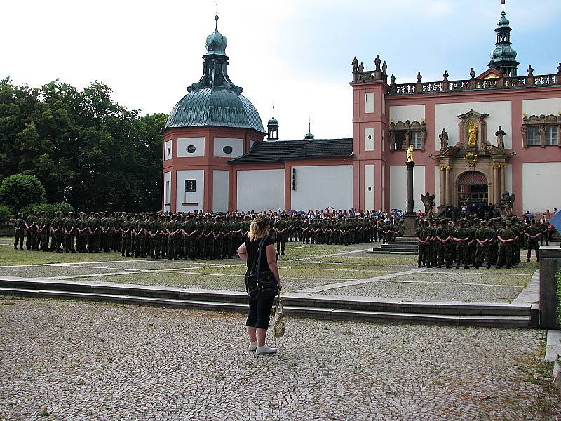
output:
M460 138L458 124L461 114L466 114L471 109L481 114L489 114L487 119L487 141L496 146L495 133L499 126L503 126L506 132L504 146L511 148L513 145L512 134L512 114L511 101L492 101L492 102L463 102L457 104L437 104L435 107L435 150L440 150L440 139L438 135L445 127L448 133L448 145L454 146ZM518 128L520 130L520 128Z

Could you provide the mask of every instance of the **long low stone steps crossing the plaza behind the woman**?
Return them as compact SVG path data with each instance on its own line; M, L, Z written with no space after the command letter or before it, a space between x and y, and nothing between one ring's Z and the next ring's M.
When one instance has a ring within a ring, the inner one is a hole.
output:
M156 305L225 312L247 311L243 292L142 286L93 281L58 281L0 277L0 294ZM529 328L536 311L529 304L412 302L338 295L283 295L288 316L314 319L421 323L451 326Z

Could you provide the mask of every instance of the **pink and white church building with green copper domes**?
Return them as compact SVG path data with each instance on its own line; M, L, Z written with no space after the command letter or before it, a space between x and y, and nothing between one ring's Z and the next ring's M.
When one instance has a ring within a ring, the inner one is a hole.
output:
M218 22L218 16L215 17ZM414 149L414 209L435 194L439 210L466 201L542 213L561 204L561 63L557 73L518 75L511 27L501 13L488 69L470 79L396 84L379 56L352 62L353 133L279 140L228 76L227 39L206 39L203 76L163 129L163 210L405 210L406 150ZM350 105L349 105L350 106Z

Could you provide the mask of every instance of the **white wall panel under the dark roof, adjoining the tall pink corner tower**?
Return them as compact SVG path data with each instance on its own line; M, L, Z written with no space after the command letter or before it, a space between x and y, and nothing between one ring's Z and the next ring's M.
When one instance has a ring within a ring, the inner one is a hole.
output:
M296 190L291 190L294 210L316 210L333 206L353 207L353 166L299 166L296 169Z

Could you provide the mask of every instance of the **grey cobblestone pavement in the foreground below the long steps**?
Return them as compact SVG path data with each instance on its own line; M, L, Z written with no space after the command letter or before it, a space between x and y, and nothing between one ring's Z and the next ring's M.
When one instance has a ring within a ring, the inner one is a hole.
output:
M544 333L0 300L0 420L561 420Z

